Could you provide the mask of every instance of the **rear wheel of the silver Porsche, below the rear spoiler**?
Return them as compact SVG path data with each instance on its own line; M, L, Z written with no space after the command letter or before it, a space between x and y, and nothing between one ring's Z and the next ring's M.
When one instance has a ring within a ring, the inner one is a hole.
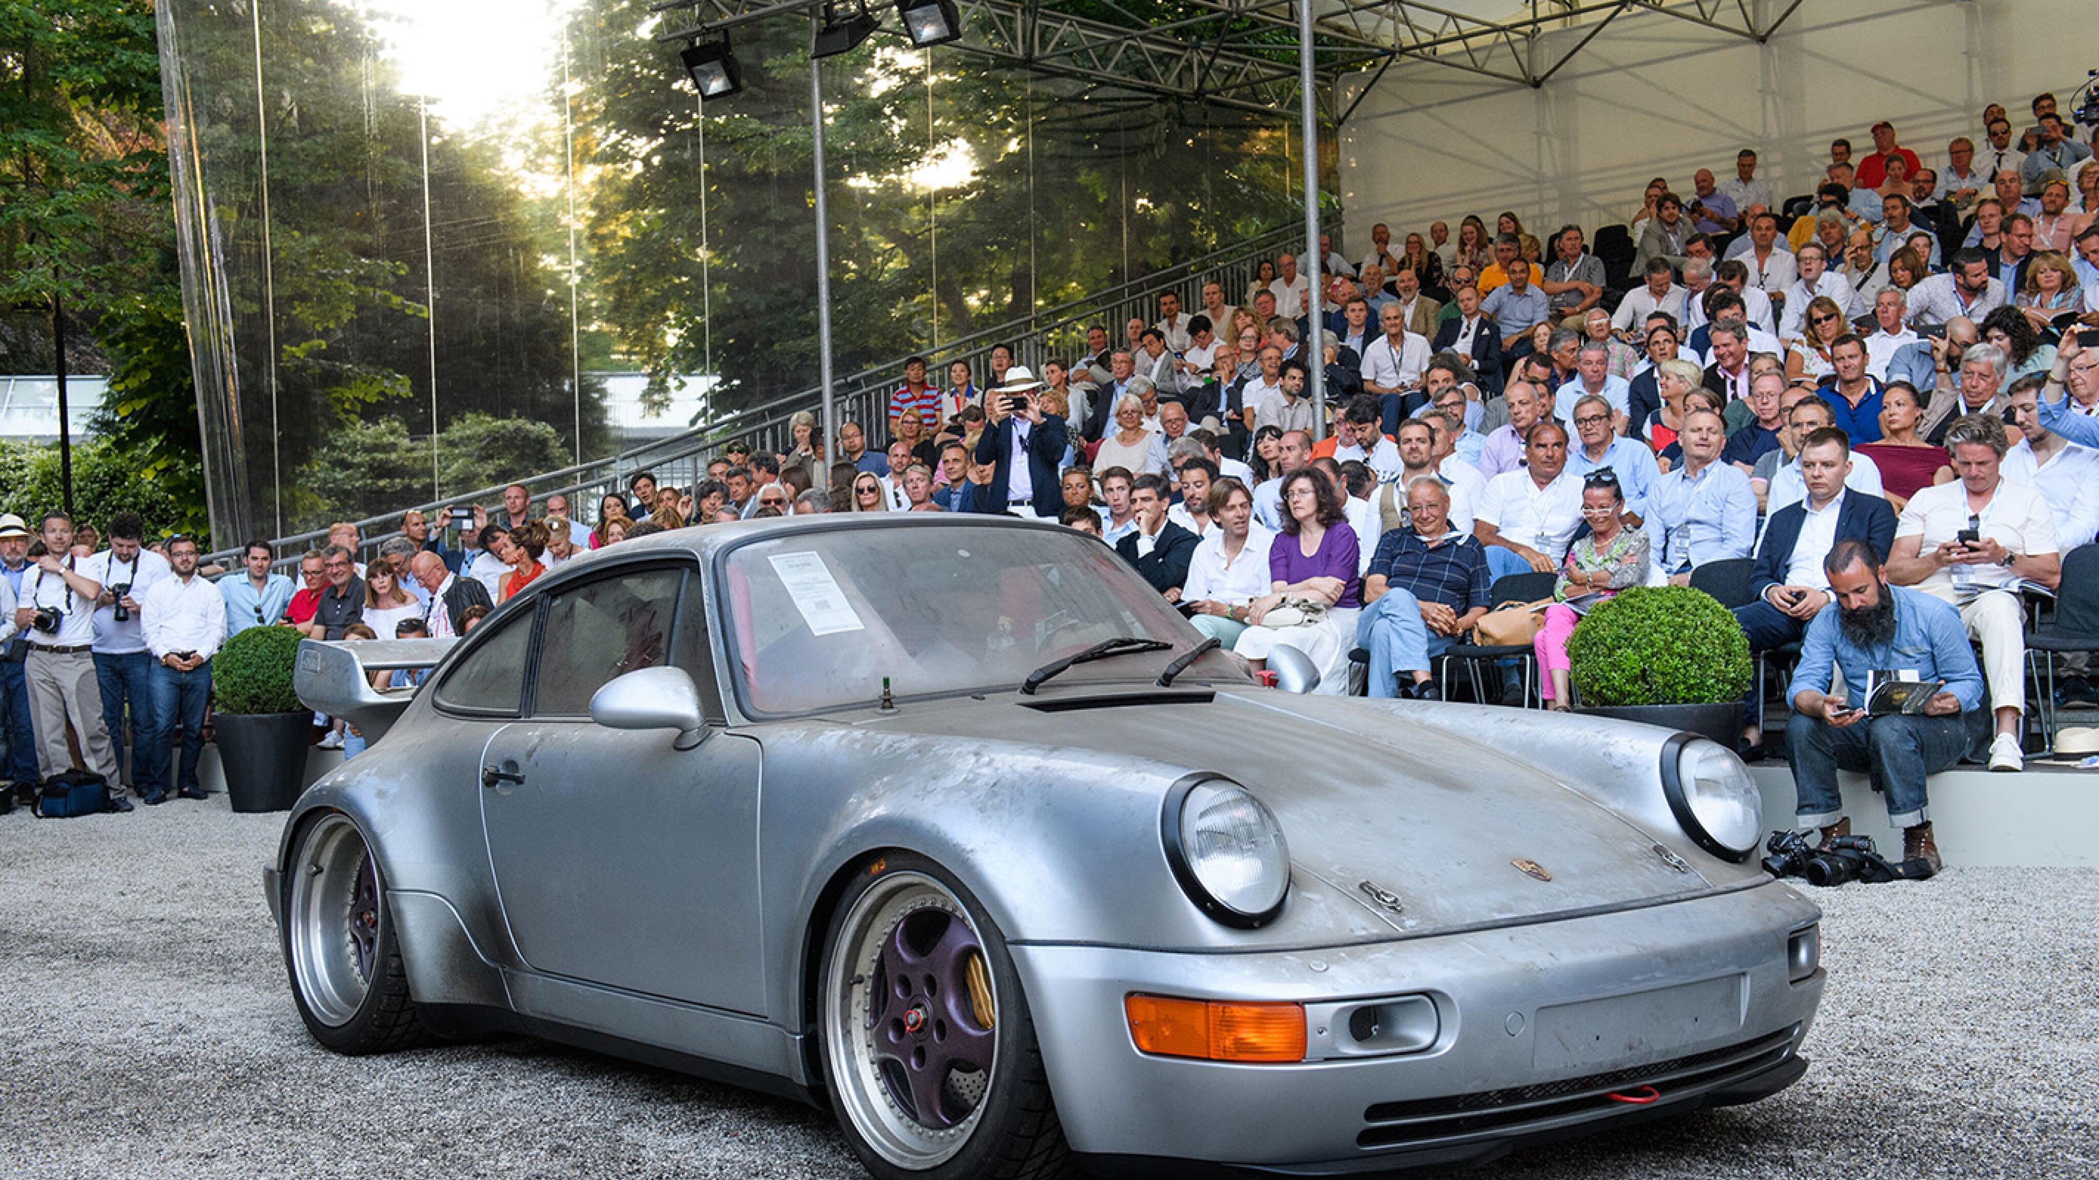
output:
M313 1039L353 1056L428 1041L386 882L351 817L330 813L300 834L283 894L283 964Z

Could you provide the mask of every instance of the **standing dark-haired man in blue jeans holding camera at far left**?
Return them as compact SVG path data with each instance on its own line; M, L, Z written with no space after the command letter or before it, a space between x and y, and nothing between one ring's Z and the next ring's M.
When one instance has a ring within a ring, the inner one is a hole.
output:
M130 710L132 787L149 804L166 798L160 773L166 750L147 752L147 735L160 729L153 705L153 657L145 647L139 603L168 577L168 559L145 548L145 521L136 512L109 517L109 548L80 563L80 573L103 592L94 598L94 689L103 697L103 729L118 766L126 762L124 714ZM113 779L111 779L113 783Z

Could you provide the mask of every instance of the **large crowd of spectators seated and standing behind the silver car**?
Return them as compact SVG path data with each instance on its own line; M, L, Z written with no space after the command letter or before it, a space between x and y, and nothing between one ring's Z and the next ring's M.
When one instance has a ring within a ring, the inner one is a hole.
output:
M126 720L134 747L187 743L216 645L248 626L451 636L546 569L651 531L1012 512L1096 533L1255 666L1303 651L1327 693L1362 649L1371 695L1438 697L1429 663L1494 605L1494 580L1551 573L1534 647L1555 710L1595 600L1755 559L1738 611L1753 649L1814 647L1843 613L1826 611L1837 554L1879 586L1851 594L1860 609L1956 613L1988 670L1988 760L2015 771L2017 588L2053 588L2059 554L2099 531L2099 346L2080 340L2099 325L2099 162L2051 97L2032 107L2019 141L1990 105L1979 139L1944 153L1877 124L1870 151L1835 141L1826 178L1788 202L1742 149L1688 195L1654 178L1595 237L1501 212L1455 235L1375 225L1360 260L1322 239L1316 267L1261 260L1192 309L1161 294L1157 319L1094 325L1041 374L1010 346L984 372L913 357L882 422L842 422L835 447L798 414L781 451L733 443L693 487L640 472L577 512L514 485L493 510L407 512L369 565L338 525L298 586L258 542L218 580L216 619L187 590L187 540L143 548L120 514L101 550L59 514L38 538L0 519L0 596L19 605L0 663L8 766L17 783L61 768L67 722L94 768ZM31 630L42 607L59 630ZM1786 693L1795 726L1843 716L1830 684L1805 682L1816 668ZM2065 695L2099 701L2078 678ZM1751 701L1748 750L1755 718ZM147 802L191 792L189 745L178 775L134 781Z

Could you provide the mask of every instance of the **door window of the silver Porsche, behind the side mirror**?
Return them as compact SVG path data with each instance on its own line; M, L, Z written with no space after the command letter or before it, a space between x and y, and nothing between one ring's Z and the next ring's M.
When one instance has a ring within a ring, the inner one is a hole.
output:
M621 571L554 594L546 605L533 716L590 716L590 697L613 676L670 659L684 571Z

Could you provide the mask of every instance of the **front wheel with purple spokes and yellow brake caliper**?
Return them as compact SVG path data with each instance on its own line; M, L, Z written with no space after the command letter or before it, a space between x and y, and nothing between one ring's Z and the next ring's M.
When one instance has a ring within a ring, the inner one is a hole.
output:
M932 861L892 852L854 876L819 1020L831 1111L879 1180L1077 1174L1005 939Z

